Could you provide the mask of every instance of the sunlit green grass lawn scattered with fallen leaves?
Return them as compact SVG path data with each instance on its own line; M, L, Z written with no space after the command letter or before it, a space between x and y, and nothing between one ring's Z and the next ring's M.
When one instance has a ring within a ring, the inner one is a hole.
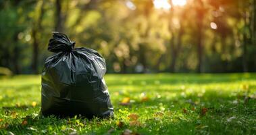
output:
M256 134L256 74L107 75L105 80L113 119L58 119L39 115L40 76L1 77L0 134ZM124 98L130 98L128 105L120 104Z

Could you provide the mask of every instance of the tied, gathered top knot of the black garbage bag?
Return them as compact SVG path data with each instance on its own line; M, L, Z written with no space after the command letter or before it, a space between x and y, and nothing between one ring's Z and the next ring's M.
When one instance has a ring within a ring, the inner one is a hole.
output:
M52 32L53 38L50 39L48 44L48 51L53 53L71 52L74 49L75 42L70 41L66 34L60 32Z

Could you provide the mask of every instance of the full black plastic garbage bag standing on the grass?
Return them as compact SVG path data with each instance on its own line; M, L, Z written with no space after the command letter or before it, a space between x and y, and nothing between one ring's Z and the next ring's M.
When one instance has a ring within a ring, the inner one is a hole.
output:
M105 59L97 51L74 48L68 36L53 32L42 73L41 113L58 117L112 117L109 92L103 78Z

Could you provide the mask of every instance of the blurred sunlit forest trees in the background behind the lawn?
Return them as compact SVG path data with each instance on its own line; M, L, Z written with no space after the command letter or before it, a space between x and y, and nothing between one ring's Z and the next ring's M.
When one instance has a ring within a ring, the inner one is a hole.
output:
M40 74L52 31L109 73L256 72L256 0L0 0L0 74Z

